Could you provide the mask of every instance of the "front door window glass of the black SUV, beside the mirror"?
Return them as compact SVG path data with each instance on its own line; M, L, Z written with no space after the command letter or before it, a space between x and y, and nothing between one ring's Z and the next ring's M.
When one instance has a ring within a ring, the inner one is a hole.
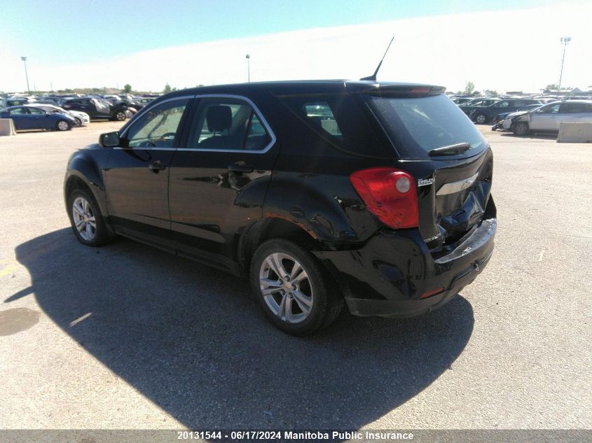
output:
M188 99L167 101L142 114L127 134L131 148L173 148Z

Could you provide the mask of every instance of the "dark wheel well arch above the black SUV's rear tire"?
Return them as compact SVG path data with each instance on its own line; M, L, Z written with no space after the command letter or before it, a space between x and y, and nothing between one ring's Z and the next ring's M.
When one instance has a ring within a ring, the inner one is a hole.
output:
M249 272L251 260L257 248L270 239L287 239L304 248L318 248L321 242L312 237L304 227L283 218L266 218L252 225L239 243L238 260L245 272Z

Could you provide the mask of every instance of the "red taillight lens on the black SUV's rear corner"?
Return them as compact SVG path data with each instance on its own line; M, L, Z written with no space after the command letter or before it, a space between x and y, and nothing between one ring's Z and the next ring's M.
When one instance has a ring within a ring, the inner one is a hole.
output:
M415 179L401 169L370 168L350 176L366 208L385 225L400 229L419 226Z

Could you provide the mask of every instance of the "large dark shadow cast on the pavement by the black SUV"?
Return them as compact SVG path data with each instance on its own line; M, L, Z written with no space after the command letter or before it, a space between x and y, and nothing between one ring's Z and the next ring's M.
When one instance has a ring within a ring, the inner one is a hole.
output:
M471 337L457 296L408 320L342 315L296 338L265 321L238 279L69 228L15 249L41 309L109 370L190 428L360 428L425 389Z

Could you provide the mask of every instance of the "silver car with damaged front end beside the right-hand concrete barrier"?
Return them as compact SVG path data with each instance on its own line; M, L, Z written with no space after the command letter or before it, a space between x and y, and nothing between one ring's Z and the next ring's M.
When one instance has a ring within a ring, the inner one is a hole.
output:
M516 135L559 132L561 122L592 122L592 100L553 102L534 111L516 112L504 120L504 129Z

